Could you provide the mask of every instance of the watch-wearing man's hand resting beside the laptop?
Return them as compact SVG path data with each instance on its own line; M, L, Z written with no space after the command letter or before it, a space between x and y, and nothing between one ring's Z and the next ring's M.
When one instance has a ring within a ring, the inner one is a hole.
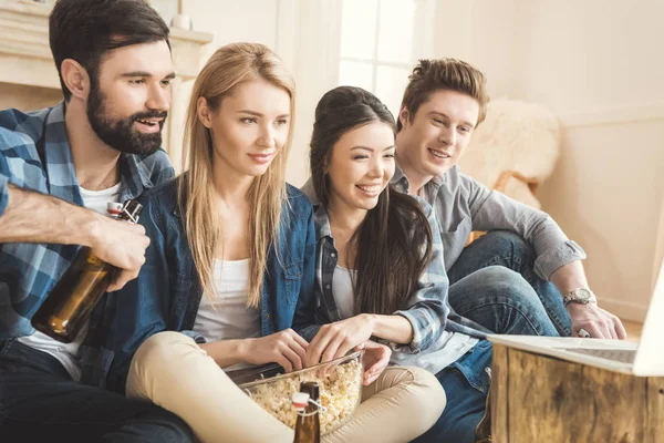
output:
M596 303L571 302L567 309L572 319L572 336L578 336L579 330L585 329L593 339L624 340L627 338L627 332L620 319Z

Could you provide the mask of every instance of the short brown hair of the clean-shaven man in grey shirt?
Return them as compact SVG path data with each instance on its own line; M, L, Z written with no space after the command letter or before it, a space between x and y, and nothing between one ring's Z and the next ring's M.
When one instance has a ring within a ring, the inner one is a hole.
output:
M408 85L404 92L402 107L408 110L411 122L415 113L425 103L432 92L448 90L460 92L477 100L480 124L487 115L487 80L485 75L470 63L456 59L419 60L408 76ZM396 121L396 128L401 131L401 120Z

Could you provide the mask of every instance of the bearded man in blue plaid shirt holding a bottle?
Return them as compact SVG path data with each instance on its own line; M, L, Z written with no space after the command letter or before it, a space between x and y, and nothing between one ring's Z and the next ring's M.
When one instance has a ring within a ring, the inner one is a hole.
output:
M96 346L111 302L69 344L30 324L77 245L121 269L110 291L138 275L149 239L106 206L174 175L168 27L143 0L59 0L49 31L64 102L0 111L0 436L191 441L170 412L84 384L113 358Z

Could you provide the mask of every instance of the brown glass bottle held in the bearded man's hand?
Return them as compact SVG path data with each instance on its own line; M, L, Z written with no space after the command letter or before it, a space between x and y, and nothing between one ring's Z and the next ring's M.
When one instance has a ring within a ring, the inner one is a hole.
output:
M117 219L136 223L142 208L138 202L127 200ZM82 247L32 316L32 327L58 341L74 341L116 272L116 267Z

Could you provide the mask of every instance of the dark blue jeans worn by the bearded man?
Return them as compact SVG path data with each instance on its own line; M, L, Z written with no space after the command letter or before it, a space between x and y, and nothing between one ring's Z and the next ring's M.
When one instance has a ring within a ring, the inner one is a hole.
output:
M0 441L194 442L189 426L152 403L73 381L45 352L0 341Z

